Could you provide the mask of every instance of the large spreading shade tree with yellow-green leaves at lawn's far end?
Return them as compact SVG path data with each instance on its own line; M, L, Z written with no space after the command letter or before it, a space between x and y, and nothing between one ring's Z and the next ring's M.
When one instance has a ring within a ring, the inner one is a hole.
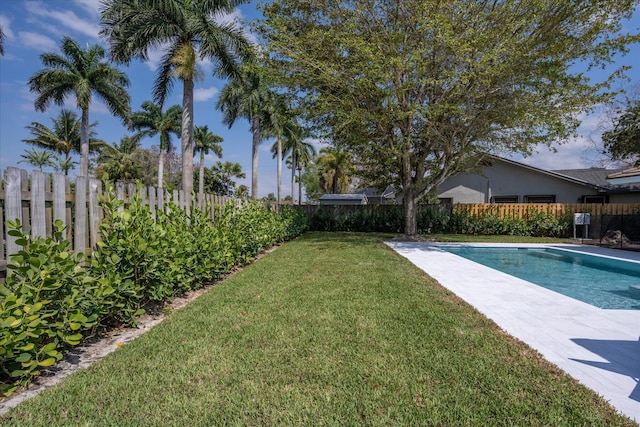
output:
M613 95L580 72L613 62L635 0L273 0L262 35L309 120L359 172L416 204L483 153L562 142ZM584 69L584 68L583 68ZM618 70L619 71L619 70ZM613 77L619 73L615 71Z

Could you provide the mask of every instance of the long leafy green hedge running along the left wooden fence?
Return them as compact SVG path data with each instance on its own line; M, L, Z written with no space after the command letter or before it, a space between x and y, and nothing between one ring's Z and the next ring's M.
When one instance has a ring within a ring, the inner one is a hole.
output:
M98 327L135 325L150 304L200 288L306 229L299 210L258 202L217 208L215 222L170 203L154 220L141 199L124 206L105 185L102 240L89 262L70 251L60 222L46 239L9 222L22 249L0 285L0 395L29 384Z

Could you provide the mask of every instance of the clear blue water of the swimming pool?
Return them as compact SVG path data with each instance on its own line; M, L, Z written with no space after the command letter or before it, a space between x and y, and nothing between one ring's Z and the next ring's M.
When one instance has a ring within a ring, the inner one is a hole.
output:
M640 264L561 249L441 249L600 308L640 310Z

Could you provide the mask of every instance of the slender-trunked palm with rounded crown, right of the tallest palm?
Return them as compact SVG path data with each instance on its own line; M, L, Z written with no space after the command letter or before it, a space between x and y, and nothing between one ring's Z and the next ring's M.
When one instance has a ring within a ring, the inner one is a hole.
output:
M272 102L273 93L264 79L256 72L246 71L235 76L227 83L216 108L222 111L223 123L233 126L238 118L251 123L251 198L258 198L258 149L261 141L261 113Z

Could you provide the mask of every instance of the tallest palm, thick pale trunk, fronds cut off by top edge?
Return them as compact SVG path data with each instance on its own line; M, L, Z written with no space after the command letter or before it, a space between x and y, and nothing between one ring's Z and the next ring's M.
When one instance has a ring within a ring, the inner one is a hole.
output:
M153 87L154 100L164 105L174 79L182 81L182 188L193 190L193 88L197 59L211 59L217 71L231 74L250 43L234 24L215 18L247 0L103 0L101 34L112 57L129 63L148 59L150 48L162 47Z

